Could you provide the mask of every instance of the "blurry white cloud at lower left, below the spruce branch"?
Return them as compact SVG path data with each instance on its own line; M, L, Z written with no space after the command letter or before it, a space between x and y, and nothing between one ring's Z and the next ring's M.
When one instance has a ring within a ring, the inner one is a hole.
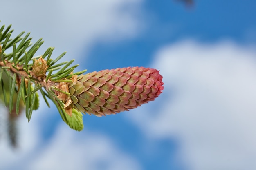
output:
M0 169L141 170L137 160L123 152L108 136L86 129L76 132L62 121L54 136L44 141L40 131L40 120L45 119L43 112L34 112L29 123L25 115L20 117L18 148L11 148L6 137L2 136ZM46 117L50 118L49 115Z

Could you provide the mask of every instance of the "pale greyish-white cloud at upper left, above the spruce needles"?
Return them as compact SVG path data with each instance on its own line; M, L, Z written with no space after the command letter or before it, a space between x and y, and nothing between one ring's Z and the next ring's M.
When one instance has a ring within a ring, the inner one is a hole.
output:
M54 56L67 51L67 56L77 59L95 41L111 42L137 35L142 24L138 10L141 2L142 0L6 1L1 9L6 14L1 18L1 24L13 24L15 35L21 31L31 32L33 42L42 37L45 43L39 54L49 46L54 46Z

